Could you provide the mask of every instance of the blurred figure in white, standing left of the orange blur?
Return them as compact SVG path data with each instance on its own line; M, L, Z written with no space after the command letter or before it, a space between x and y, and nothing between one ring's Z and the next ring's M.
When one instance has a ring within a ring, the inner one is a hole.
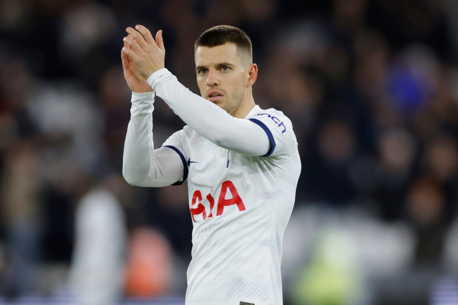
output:
M78 304L110 305L121 296L126 229L119 175L90 189L76 208L71 288ZM123 187L124 186L124 187Z

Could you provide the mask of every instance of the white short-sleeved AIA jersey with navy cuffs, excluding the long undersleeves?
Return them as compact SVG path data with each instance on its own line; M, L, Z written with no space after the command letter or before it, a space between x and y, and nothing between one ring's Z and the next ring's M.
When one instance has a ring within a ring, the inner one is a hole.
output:
M245 119L271 150L251 157L218 147L189 126L163 144L180 155L188 182L192 260L186 305L281 305L282 240L300 174L290 120L255 106Z

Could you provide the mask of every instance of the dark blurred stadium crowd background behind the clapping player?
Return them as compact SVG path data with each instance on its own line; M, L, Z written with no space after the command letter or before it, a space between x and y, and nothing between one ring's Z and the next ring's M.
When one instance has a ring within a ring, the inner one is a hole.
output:
M457 16L455 0L0 0L0 295L184 296L186 184L121 176L120 49L127 26L162 29L198 93L194 41L229 24L252 39L255 102L299 143L284 304L458 304ZM184 123L154 105L160 147Z

